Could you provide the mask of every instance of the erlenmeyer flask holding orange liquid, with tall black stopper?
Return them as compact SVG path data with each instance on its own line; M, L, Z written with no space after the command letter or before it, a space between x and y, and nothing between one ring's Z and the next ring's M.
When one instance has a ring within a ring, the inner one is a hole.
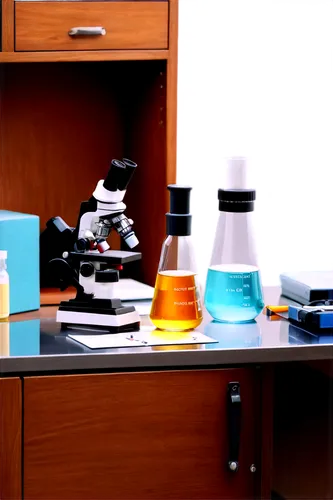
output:
M167 237L163 243L150 320L160 330L186 331L202 321L190 214L191 187L171 184Z

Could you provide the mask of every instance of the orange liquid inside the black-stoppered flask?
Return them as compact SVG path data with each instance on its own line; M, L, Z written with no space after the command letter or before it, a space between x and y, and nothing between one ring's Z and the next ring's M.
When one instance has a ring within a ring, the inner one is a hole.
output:
M158 273L150 320L160 330L186 331L200 325L202 310L194 273Z

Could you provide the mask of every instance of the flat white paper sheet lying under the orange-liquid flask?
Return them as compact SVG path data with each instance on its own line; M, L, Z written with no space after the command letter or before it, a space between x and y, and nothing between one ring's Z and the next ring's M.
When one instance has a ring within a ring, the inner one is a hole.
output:
M68 335L69 338L89 349L111 349L120 347L150 347L163 345L211 344L217 342L200 332L156 332L143 329L131 333L96 335Z

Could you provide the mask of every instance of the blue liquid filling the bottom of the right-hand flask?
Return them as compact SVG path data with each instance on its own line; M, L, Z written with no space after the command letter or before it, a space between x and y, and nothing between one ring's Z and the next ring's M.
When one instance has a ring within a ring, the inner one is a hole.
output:
M211 266L207 272L205 306L217 321L254 320L264 308L258 268L242 264Z

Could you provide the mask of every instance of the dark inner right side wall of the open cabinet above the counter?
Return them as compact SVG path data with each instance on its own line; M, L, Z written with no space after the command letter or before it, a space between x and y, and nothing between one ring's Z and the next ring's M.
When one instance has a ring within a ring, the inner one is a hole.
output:
M143 64L143 63L141 63ZM169 209L166 164L166 75L165 62L151 73L151 64L142 65L144 73L151 74L150 82L126 78L128 113L133 126L128 130L128 155L135 158L138 167L135 183L128 189L128 214L134 219L139 237L138 250L142 252L141 272L134 276L154 286L161 247L165 238L165 213ZM133 100L133 84L139 98ZM138 211L141 217L137 216Z

